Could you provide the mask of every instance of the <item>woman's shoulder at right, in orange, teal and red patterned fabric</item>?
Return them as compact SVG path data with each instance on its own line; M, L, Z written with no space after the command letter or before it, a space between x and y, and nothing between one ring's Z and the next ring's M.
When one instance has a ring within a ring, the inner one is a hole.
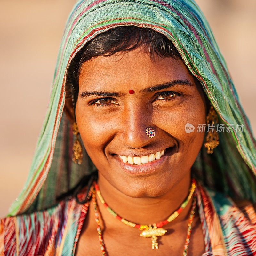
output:
M251 255L252 251L255 252L256 214L252 202L232 199L205 187L201 191L203 212L215 249L223 244L228 255Z

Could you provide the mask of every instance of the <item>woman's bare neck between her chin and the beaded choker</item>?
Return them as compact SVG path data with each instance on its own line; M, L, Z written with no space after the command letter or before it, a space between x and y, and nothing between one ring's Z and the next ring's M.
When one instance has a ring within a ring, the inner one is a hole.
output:
M100 173L98 178L100 193L105 203L120 217L140 225L148 225L166 220L189 194L191 187L190 172L177 185L167 193L157 197L133 198L125 195L111 185ZM97 196L99 210L103 219L109 221L115 218L108 212ZM179 222L188 219L192 198L179 216L172 222Z

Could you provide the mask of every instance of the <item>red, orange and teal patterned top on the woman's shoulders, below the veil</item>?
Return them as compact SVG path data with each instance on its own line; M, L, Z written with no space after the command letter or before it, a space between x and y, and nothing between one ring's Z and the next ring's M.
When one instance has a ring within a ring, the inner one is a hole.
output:
M231 198L199 184L196 197L204 233L202 256L256 255L256 214L250 202L238 207ZM73 256L88 206L70 197L44 211L3 219L0 256Z

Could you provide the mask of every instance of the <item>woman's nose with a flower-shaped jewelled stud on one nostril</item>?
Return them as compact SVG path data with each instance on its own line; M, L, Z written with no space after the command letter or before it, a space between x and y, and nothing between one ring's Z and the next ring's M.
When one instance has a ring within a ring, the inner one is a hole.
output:
M154 140L146 133L147 128L152 128L156 133L148 108L134 105L127 107L120 119L119 140L130 148L143 148Z

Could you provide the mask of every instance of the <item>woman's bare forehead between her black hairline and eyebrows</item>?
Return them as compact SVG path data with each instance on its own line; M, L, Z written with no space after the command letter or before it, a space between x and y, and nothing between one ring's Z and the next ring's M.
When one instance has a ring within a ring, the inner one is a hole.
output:
M111 56L98 56L83 63L79 76L80 89L141 90L147 86L193 76L182 60L155 56L152 59L140 48Z

